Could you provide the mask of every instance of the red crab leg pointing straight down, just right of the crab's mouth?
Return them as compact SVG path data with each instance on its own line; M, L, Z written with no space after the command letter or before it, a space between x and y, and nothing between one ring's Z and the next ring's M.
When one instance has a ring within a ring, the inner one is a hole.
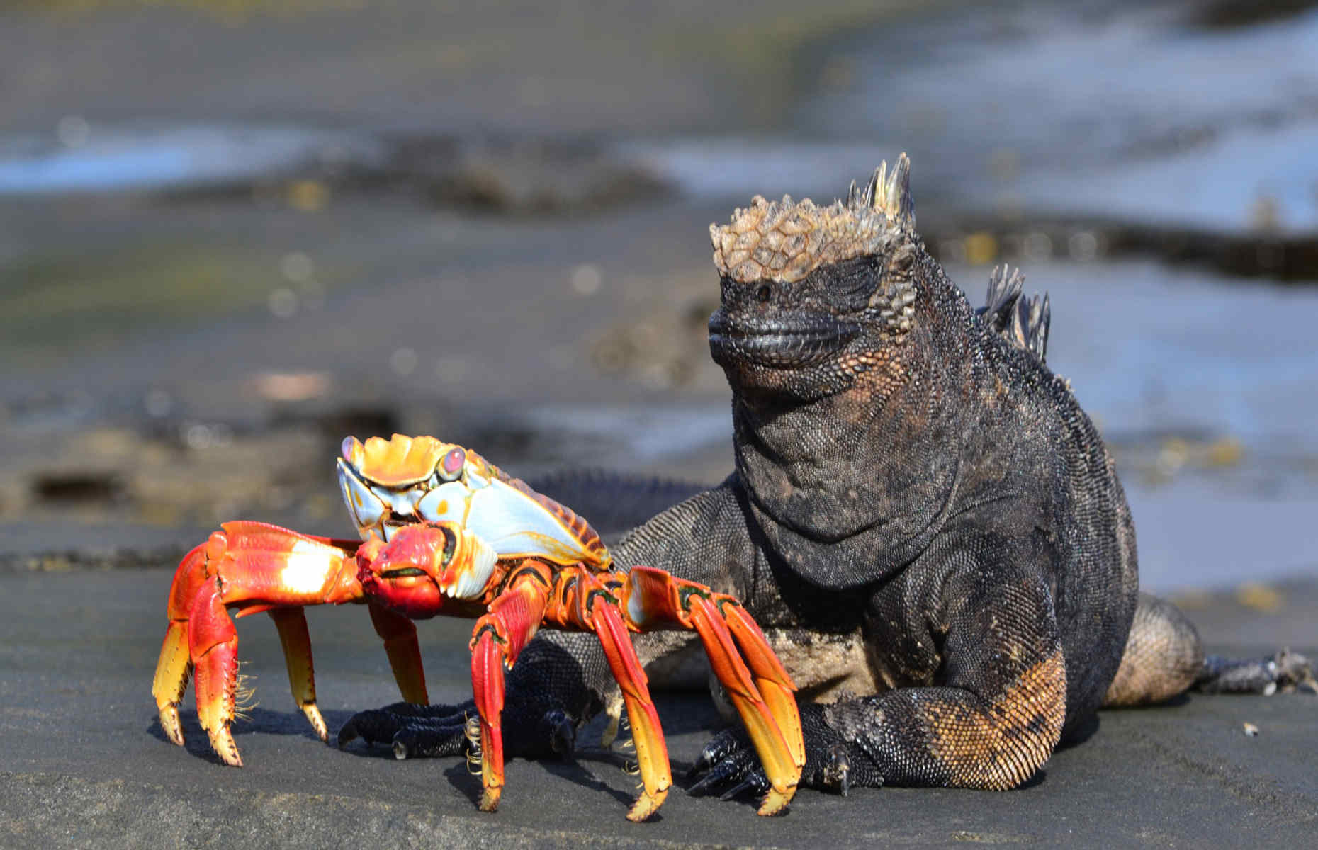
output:
M498 808L503 792L503 668L511 668L544 618L550 568L523 561L489 613L472 629L472 692L481 716L481 810Z

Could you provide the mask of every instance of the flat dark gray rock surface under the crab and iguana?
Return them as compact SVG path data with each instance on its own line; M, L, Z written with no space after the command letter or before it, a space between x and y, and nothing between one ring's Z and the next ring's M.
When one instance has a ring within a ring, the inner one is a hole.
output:
M397 762L382 747L316 741L265 617L239 621L258 704L235 727L245 760L235 770L210 752L191 692L186 749L156 721L169 581L165 568L0 573L0 846L1307 846L1318 818L1318 700L1302 694L1103 713L1086 742L1014 792L804 789L776 818L757 817L749 800L681 791L718 718L705 694L670 694L659 713L677 787L656 821L623 820L634 779L592 729L576 762L511 760L500 812L482 814L461 759ZM1231 594L1201 597L1194 615L1220 651L1272 648L1249 643L1259 634L1318 646L1318 586L1284 585L1269 598L1261 613ZM397 698L365 611L308 618L332 731ZM436 701L469 693L468 627L422 623ZM1247 737L1246 722L1260 734Z

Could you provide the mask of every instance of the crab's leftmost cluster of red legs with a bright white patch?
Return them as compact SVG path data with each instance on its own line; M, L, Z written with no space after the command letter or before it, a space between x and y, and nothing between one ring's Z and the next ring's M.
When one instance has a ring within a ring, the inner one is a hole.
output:
M362 590L355 540L315 538L258 522L231 522L223 528L188 552L174 573L170 623L152 692L165 734L183 743L178 704L195 668L202 727L225 763L241 766L228 729L237 691L237 633L225 608L239 608L240 617L272 613L283 642L293 697L324 737L301 606L357 601Z

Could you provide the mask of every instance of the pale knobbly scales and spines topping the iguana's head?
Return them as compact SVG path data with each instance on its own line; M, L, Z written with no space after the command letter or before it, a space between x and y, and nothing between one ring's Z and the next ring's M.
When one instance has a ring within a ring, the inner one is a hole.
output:
M911 161L903 153L892 171L887 169L883 161L863 190L853 182L845 204L820 207L808 198L795 203L791 195L767 202L755 195L729 224L709 225L720 274L742 283L791 283L821 265L883 253L915 229Z

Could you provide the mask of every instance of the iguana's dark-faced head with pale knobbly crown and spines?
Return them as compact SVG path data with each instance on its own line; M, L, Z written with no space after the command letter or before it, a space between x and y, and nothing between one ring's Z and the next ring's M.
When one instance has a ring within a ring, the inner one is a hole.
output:
M818 398L884 365L915 320L905 154L846 203L767 202L709 225L722 303L709 349L738 389Z

